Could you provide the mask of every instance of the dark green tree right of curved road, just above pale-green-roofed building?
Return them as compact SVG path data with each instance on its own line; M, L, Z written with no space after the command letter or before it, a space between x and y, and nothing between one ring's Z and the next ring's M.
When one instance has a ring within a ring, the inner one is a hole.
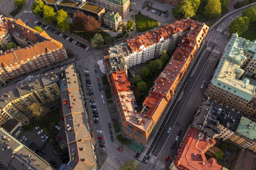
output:
M237 32L239 36L248 30L250 19L248 17L238 17L229 25L231 33Z

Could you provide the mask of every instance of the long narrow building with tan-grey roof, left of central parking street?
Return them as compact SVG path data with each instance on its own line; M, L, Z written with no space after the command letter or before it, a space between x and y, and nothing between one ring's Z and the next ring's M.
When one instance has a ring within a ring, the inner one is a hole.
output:
M67 169L95 169L94 148L76 64L68 64L65 68L63 78L60 79L60 90L70 157Z

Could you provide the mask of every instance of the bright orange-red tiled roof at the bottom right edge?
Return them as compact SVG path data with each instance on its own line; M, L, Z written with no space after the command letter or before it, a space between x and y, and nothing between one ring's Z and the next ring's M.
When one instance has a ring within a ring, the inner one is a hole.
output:
M223 166L217 164L216 159L207 160L205 157L205 152L215 143L214 139L207 137L198 129L189 129L175 157L174 165L177 169L223 169Z

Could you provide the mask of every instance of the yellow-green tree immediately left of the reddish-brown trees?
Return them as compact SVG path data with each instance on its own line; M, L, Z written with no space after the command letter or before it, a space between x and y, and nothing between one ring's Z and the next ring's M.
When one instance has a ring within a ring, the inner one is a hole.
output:
M68 31L70 28L70 22L68 20L68 13L63 10L57 12L57 27L62 31Z

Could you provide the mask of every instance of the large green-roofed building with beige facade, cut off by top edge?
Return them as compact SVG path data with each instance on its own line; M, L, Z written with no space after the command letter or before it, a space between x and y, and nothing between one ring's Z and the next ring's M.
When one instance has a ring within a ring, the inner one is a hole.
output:
M90 0L93 3L103 6L106 11L118 12L122 18L125 18L130 11L130 0Z

